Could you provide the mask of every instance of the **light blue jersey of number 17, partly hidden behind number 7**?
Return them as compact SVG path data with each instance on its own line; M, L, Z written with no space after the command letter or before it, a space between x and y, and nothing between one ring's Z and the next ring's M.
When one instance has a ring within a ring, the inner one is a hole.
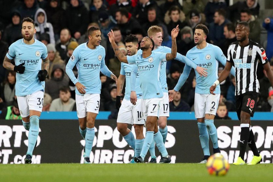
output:
M153 52L163 52L163 53L171 53L172 49L166 46L159 46L157 49L154 49ZM138 54L142 54L142 50L139 49ZM176 58L177 61L184 62L188 66L191 66L192 68L196 69L197 65L194 64L190 59L188 59L186 56L183 56L180 53L177 53ZM160 70L160 83L161 88L163 92L168 93L168 86L167 86L167 75L166 75L166 65L167 62L161 63L161 70Z

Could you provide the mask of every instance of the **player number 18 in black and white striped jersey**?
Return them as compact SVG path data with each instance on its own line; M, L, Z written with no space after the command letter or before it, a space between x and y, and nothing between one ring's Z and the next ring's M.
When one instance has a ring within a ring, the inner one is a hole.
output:
M258 102L259 81L257 79L257 66L262 63L273 86L273 73L265 54L265 50L256 42L248 39L249 25L247 22L239 22L235 29L237 42L232 43L227 52L227 63L218 80L210 88L214 94L216 86L224 81L230 73L231 67L235 67L236 80L236 110L238 119L241 121L240 154L235 165L245 164L244 153L246 146L251 148L254 156L249 165L255 165L262 161L258 152L254 134L251 130L250 116L253 117Z

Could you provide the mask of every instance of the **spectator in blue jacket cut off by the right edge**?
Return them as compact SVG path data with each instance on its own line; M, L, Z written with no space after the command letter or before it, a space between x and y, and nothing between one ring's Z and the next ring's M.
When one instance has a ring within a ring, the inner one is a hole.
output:
M267 30L266 56L273 62L273 17L266 18L263 22L263 27Z

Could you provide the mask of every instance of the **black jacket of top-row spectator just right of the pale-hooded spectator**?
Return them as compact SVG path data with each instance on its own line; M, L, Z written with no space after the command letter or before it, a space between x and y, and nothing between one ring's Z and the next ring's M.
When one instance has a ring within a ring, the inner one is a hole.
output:
M50 22L53 26L54 34L59 35L62 28L66 26L65 10L58 2L58 6L56 8L49 6L46 8L45 12L47 15L47 22Z

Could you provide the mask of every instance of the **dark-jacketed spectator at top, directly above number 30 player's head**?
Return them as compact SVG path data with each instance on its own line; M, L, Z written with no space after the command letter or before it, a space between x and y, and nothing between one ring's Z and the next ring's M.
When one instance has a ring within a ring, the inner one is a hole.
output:
M35 12L39 8L36 0L24 0L24 3L19 7L21 18L29 17L34 20Z

